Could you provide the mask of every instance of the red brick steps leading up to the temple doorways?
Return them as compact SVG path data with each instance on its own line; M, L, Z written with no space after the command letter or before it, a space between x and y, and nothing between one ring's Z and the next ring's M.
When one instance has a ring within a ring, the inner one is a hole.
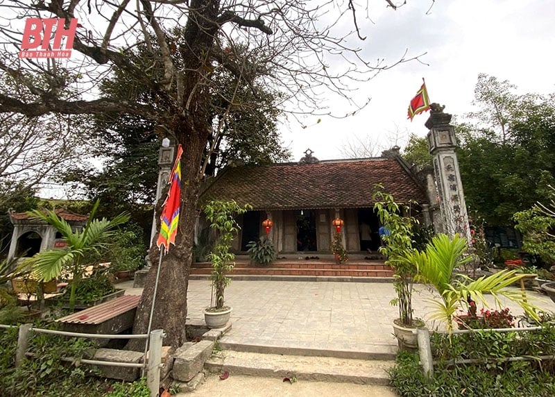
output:
M205 279L210 276L210 271L210 262L196 262L191 267L190 279ZM379 255L373 255L372 259L364 259L364 255L350 255L348 262L336 264L331 255L311 254L303 257L282 257L268 266L251 264L248 257L238 255L229 276L235 280L390 282L393 271Z

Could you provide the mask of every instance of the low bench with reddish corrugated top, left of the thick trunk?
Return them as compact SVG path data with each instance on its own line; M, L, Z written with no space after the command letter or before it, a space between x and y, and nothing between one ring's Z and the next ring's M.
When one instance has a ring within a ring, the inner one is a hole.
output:
M119 334L133 326L140 295L123 295L56 321L62 330L87 334Z

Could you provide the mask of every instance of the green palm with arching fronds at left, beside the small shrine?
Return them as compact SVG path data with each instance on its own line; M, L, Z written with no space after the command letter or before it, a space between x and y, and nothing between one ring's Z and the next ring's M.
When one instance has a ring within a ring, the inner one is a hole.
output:
M33 273L40 281L58 278L62 271L71 273L70 310L73 310L75 306L75 290L88 265L87 257L89 255L101 255L101 251L110 246L108 239L117 233L117 226L129 219L129 215L126 213L119 214L110 221L105 218L94 219L97 208L99 208L99 201L94 204L83 230L76 232L71 230L71 226L65 219L61 219L53 211L43 213L33 210L29 212L32 217L41 219L56 228L67 242L65 248L55 248L37 253L31 258L30 262Z

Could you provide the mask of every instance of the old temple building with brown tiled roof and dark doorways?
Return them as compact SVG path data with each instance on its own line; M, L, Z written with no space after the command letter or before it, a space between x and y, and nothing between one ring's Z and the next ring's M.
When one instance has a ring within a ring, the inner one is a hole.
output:
M235 200L253 206L238 219L241 230L233 248L239 253L247 250L248 242L265 235L266 219L273 223L268 237L281 254L330 253L332 221L337 218L343 221L343 242L349 252L376 251L380 245L380 224L373 210L377 184L398 203L409 205L411 215L432 223L426 178L411 170L397 146L379 158L320 161L308 149L299 162L226 167L203 190L200 204ZM203 219L199 233L207 233Z

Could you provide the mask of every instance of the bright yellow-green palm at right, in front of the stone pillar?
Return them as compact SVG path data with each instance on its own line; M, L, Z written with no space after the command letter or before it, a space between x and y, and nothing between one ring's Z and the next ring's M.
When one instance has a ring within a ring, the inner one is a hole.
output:
M509 298L518 303L527 314L538 319L534 311L536 307L527 303L520 292L506 289L513 282L524 277L514 270L499 271L477 280L459 275L459 279L454 280L456 269L472 260L472 256L465 256L466 250L466 239L459 235L455 235L452 239L447 235L436 235L427 244L425 251L407 251L404 254L405 260L418 267L416 279L434 286L441 297L440 301L431 301L436 308L430 319L445 321L447 329L452 330L452 319L456 310L461 305L467 306L469 297L472 301L481 302L487 306L484 294L491 294L498 305L502 305L499 296Z

